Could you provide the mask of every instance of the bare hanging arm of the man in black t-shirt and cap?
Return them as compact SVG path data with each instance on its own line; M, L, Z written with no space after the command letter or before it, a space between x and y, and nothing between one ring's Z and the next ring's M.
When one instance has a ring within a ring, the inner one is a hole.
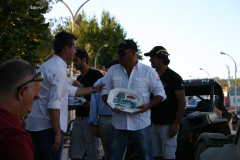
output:
M170 133L170 138L174 137L178 132L178 125L182 119L186 101L185 101L185 92L184 90L175 91L176 98L178 100L177 115L174 122L171 124L168 133Z

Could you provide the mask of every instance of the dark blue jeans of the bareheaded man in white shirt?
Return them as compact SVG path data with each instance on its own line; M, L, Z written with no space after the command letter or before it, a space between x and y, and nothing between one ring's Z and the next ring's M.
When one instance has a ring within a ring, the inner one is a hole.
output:
M64 134L62 131L62 144L57 152L51 152L51 147L55 141L55 132L52 128L42 131L28 131L32 137L35 149L34 160L60 160Z

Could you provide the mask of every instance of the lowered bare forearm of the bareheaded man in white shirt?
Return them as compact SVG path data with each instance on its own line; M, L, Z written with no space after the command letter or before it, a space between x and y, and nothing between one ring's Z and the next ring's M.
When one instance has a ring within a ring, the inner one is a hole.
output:
M55 142L51 147L51 152L56 152L62 143L62 132L60 127L60 109L49 109L49 119L55 132Z

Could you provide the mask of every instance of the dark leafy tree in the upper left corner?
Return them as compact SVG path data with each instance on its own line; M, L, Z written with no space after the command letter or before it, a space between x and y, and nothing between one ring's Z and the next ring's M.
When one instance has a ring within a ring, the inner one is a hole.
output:
M43 14L51 0L0 1L0 63L23 59L34 67L41 62L36 49L49 36Z

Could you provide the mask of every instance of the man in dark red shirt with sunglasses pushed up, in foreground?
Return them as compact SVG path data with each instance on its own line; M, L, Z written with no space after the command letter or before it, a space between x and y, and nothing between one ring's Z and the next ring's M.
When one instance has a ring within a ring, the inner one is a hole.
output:
M0 66L0 159L34 159L31 136L20 119L32 110L41 90L42 74L23 60Z

